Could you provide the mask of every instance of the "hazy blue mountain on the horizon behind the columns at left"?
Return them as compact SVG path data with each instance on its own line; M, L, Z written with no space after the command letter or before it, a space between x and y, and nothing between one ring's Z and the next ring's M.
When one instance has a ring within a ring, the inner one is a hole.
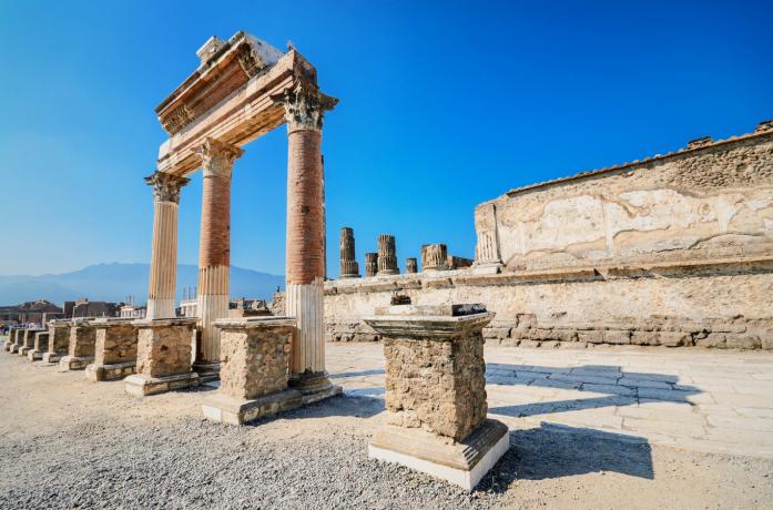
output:
M65 300L88 297L91 300L123 302L134 296L138 304L148 299L148 264L96 264L59 275L0 276L0 305L48 299L61 305ZM195 287L199 267L177 266L177 300L182 287ZM241 267L231 267L231 296L271 299L285 277Z

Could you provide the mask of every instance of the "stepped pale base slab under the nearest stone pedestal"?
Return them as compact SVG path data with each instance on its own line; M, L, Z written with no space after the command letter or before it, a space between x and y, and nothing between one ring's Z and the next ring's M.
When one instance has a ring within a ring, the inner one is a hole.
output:
M471 491L510 448L507 426L487 419L464 440L388 425L368 445L368 457L396 462Z

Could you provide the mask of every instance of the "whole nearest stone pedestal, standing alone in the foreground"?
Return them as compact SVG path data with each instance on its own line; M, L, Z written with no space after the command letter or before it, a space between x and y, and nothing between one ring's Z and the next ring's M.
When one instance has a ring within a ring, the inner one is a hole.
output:
M482 305L377 309L365 322L384 338L387 425L368 456L472 490L509 448L507 427L486 418Z

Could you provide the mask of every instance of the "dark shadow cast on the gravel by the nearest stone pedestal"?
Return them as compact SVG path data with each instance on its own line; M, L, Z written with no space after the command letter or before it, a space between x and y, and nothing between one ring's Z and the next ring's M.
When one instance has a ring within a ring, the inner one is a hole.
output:
M654 479L652 448L635 436L540 424L510 431L510 450L489 471L479 490L504 492L516 480L546 480L591 472Z

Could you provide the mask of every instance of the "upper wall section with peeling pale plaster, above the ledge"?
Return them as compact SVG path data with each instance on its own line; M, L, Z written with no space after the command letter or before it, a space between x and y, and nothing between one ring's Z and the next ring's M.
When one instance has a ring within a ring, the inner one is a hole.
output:
M773 131L512 190L475 224L505 271L773 253Z

